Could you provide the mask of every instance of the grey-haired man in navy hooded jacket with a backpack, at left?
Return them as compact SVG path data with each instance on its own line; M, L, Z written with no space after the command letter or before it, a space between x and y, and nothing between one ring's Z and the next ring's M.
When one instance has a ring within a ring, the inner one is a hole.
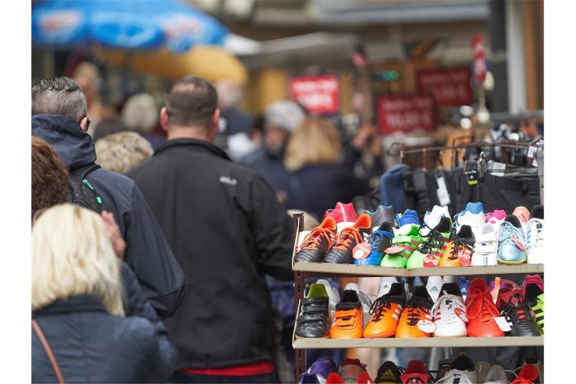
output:
M50 144L70 170L94 164L86 98L73 79L44 79L32 87L32 135ZM130 178L105 169L86 176L102 209L114 215L126 240L124 260L158 315L175 313L184 297L184 273L154 214Z

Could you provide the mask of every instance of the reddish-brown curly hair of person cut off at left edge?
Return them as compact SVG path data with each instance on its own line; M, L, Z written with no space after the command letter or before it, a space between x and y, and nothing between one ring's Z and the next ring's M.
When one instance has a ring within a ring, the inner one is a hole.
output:
M68 168L54 149L32 136L32 213L66 203Z

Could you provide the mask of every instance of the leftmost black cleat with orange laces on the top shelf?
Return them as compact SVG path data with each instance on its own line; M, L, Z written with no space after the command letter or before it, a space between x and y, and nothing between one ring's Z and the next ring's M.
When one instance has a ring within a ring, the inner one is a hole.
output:
M294 257L295 263L321 263L328 249L336 238L336 220L328 216L319 226L314 228L300 245L300 250Z

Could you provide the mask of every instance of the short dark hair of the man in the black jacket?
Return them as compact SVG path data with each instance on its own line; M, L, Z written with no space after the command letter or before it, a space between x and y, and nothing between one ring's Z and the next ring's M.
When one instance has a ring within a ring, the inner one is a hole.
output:
M207 128L218 107L218 93L207 80L188 75L176 80L166 93L168 123Z

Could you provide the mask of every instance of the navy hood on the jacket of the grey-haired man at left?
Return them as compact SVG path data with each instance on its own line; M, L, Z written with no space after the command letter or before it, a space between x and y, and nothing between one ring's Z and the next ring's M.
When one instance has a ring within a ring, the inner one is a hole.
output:
M64 115L32 116L32 136L50 144L58 157L74 170L96 161L92 137L78 121Z

